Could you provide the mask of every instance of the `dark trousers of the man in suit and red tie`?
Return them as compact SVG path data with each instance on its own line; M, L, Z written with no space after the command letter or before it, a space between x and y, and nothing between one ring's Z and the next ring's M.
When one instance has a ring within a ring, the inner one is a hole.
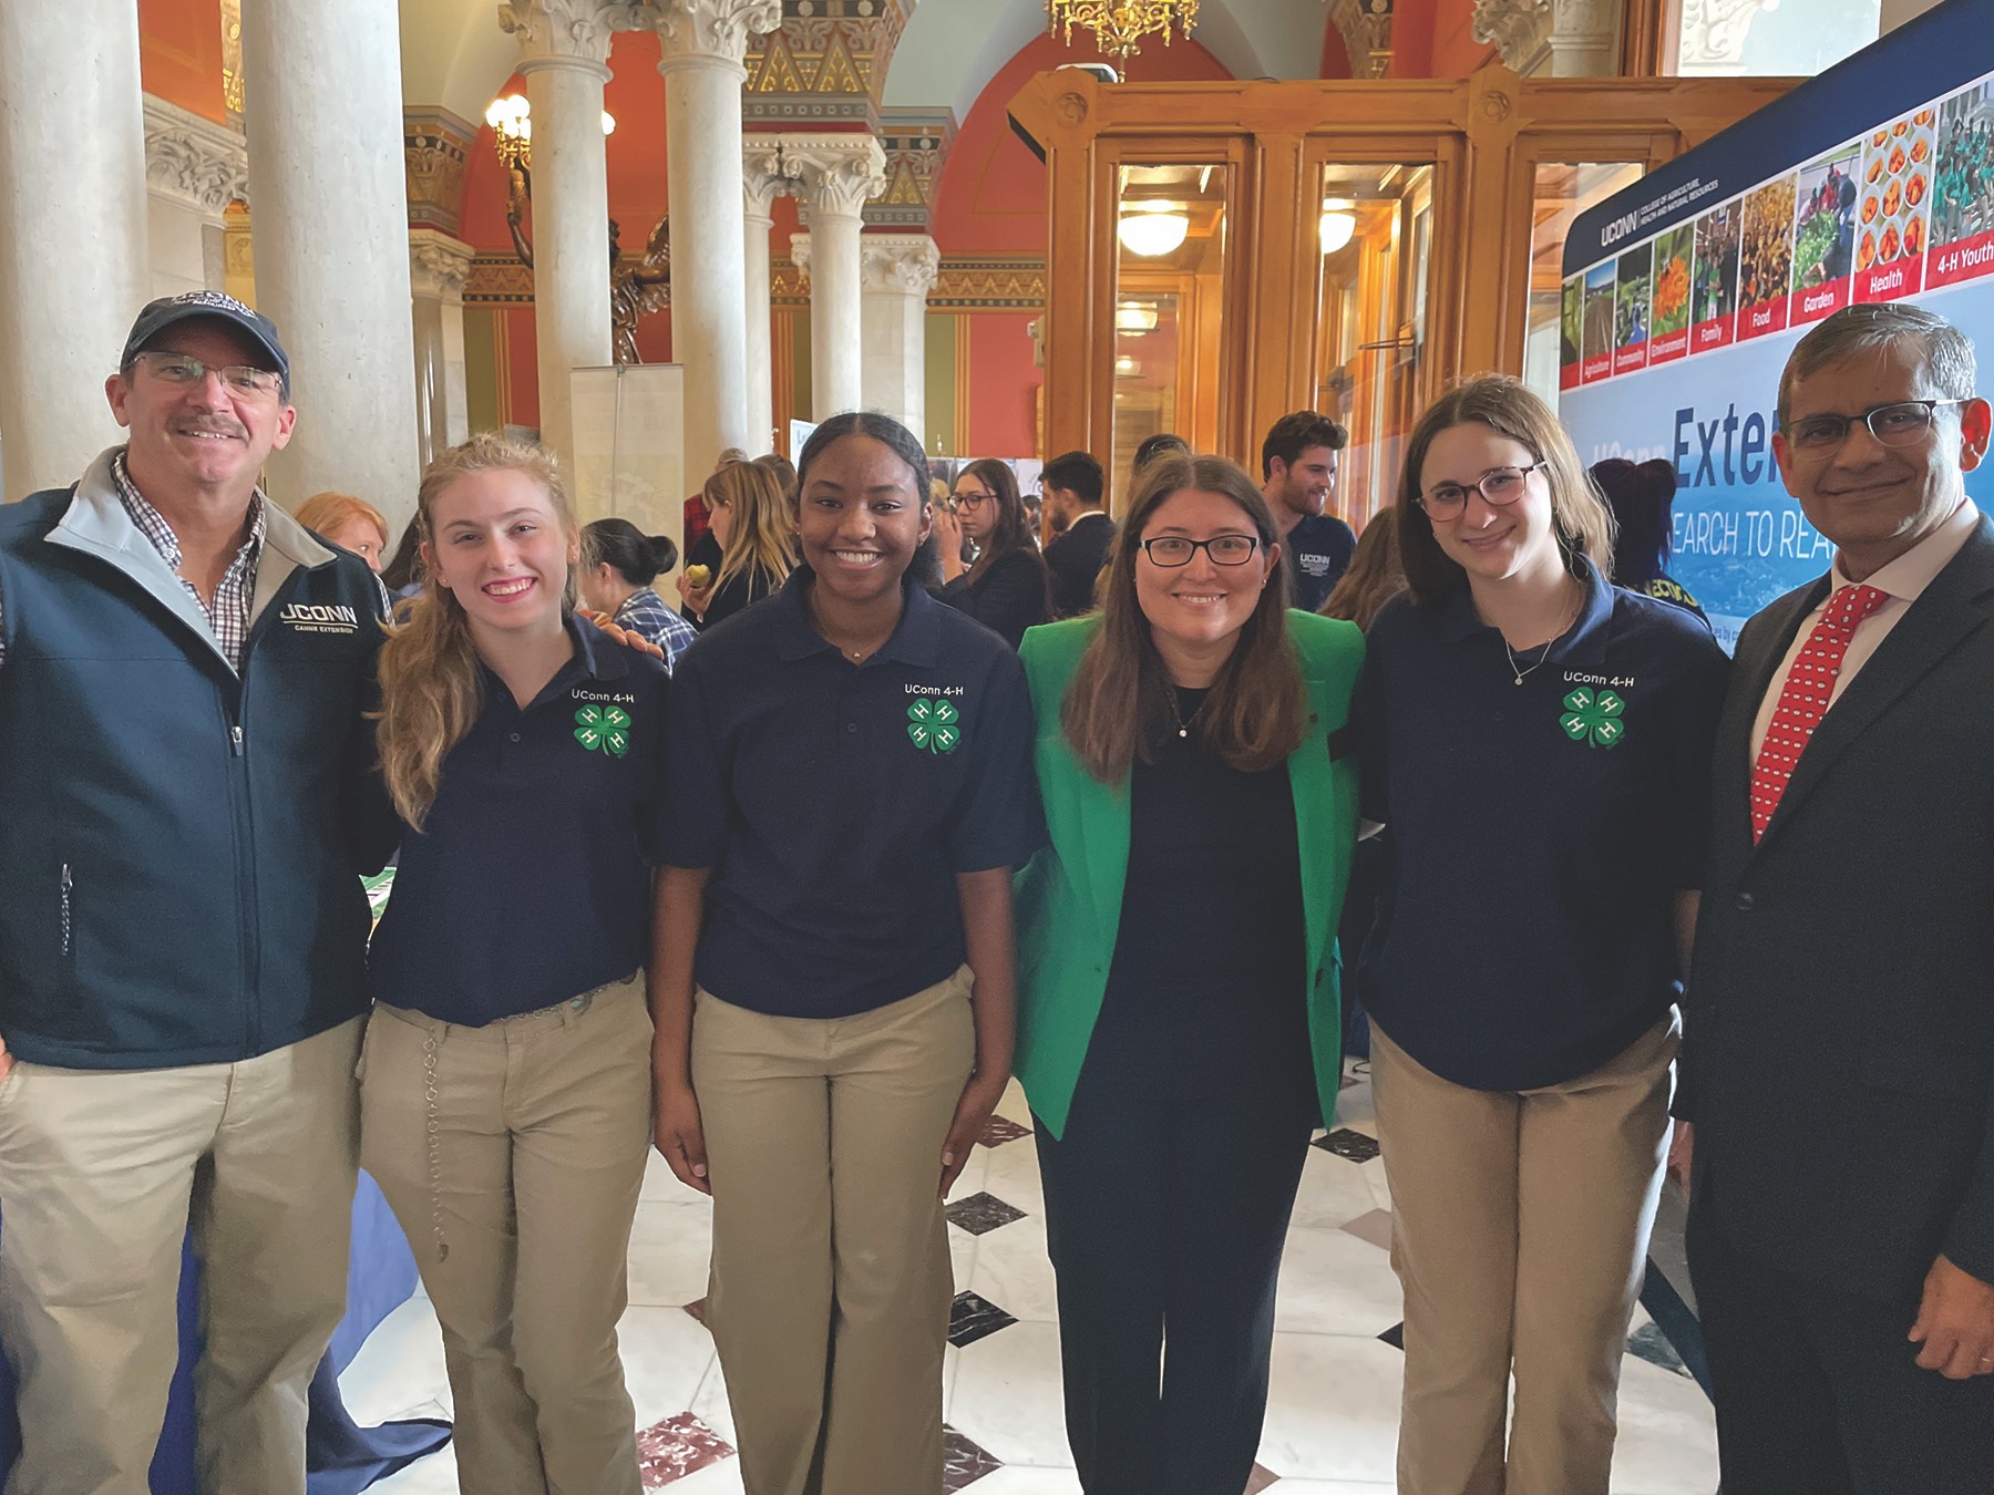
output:
M1687 1244L1725 1495L1994 1493L1994 1377L1918 1369L1904 1338L1916 1300L1858 1298L1745 1256L1719 1198L1697 1190Z

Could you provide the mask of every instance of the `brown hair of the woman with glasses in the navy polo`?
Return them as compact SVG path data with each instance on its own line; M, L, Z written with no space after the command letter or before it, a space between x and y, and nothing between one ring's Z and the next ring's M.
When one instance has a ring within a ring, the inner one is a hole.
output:
M1583 556L1611 580L1613 510L1585 476L1571 437L1521 379L1478 375L1434 401L1406 443L1406 466L1398 478L1398 558L1408 590L1420 602L1440 602L1468 584L1468 572L1440 548L1434 522L1420 508L1420 468L1426 466L1428 447L1442 431L1466 425L1488 427L1529 447L1529 454L1543 462L1543 480L1551 488L1551 524L1565 570L1577 574Z

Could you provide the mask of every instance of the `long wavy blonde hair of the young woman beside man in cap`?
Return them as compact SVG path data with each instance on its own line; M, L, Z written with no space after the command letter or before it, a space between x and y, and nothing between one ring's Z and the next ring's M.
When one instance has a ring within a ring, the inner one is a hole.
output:
M459 478L473 472L524 472L546 492L562 530L572 538L574 508L554 454L544 447L508 441L481 431L461 447L451 447L423 472L415 496L415 524L423 544L437 540L437 498ZM574 566L560 592L560 612L574 610ZM443 759L465 740L479 718L485 690L479 674L479 650L471 640L471 620L465 604L447 586L439 586L425 566L423 590L411 600L407 622L387 626L381 646L381 712L375 744L381 749L381 777L401 817L423 829L429 807L437 803L443 781Z

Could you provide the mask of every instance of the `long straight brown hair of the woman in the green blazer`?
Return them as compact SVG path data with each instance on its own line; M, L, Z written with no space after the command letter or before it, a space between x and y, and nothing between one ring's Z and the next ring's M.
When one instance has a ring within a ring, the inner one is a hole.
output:
M1059 726L1075 757L1103 783L1123 783L1137 757L1157 761L1159 744L1176 726L1170 678L1135 594L1135 568L1157 508L1186 488L1216 492L1238 504L1264 550L1278 540L1266 498L1236 462L1164 452L1141 470L1129 512L1109 550L1101 632L1081 656L1067 698L1059 704ZM1302 746L1308 702L1286 612L1288 600L1276 568L1268 586L1260 588L1260 602L1198 712L1198 736L1246 773L1274 767Z

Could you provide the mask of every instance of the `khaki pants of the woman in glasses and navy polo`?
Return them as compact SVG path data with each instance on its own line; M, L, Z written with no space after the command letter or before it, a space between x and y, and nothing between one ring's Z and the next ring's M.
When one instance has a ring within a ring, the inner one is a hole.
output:
M1402 1495L1605 1495L1677 1031L1671 1017L1567 1084L1492 1092L1442 1080L1372 1025L1406 1288Z

